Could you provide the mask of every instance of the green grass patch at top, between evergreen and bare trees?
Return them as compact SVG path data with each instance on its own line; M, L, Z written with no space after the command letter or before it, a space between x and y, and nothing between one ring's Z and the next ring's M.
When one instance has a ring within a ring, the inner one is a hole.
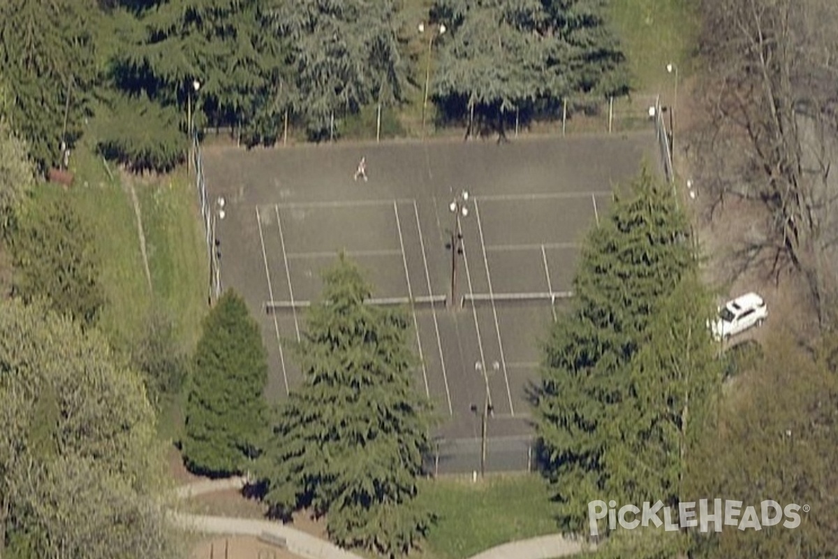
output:
M696 8L690 0L619 0L610 3L610 14L623 52L629 62L634 91L669 92L675 75L666 71L673 63L679 79L691 72L699 31Z

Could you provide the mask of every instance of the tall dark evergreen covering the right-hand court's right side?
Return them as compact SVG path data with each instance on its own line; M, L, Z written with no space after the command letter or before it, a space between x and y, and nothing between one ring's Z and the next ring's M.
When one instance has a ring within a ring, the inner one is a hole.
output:
M535 403L564 529L582 529L587 503L624 467L607 461L609 415L628 393L652 314L691 266L687 231L671 189L644 168L582 249L573 307L551 329Z

